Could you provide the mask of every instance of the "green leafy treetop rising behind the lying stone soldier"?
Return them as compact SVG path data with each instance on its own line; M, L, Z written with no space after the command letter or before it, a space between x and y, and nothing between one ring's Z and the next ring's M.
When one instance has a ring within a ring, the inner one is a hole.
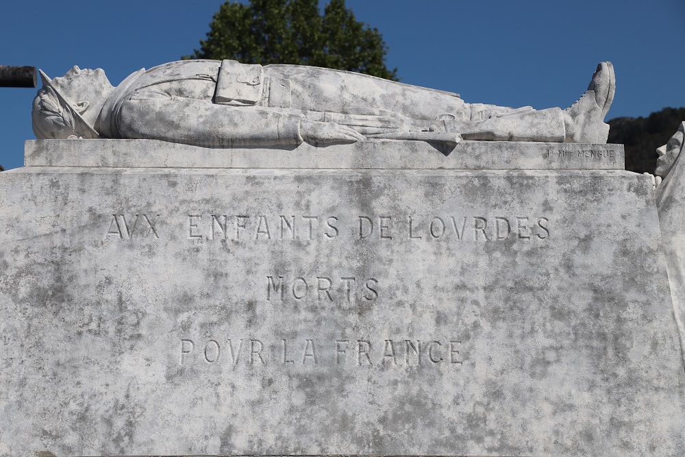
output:
M234 59L247 64L297 64L397 80L385 64L377 29L358 22L345 0L227 1L214 14L200 49L184 59Z

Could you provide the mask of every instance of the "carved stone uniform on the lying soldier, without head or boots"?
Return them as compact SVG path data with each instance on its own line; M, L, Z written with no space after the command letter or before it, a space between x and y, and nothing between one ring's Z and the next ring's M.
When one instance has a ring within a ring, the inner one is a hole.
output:
M360 73L235 60L186 60L140 70L108 97L96 129L105 138L208 147L298 145L302 119L347 125L361 134L432 126L465 139L564 140L559 108L469 104L452 92Z

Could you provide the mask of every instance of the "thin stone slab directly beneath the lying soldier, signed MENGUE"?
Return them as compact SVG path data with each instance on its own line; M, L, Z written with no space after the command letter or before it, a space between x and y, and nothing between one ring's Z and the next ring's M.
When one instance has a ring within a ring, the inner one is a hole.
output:
M442 151L443 153L438 153ZM623 145L366 140L353 145L211 149L159 140L29 140L25 166L251 169L606 170L625 168Z

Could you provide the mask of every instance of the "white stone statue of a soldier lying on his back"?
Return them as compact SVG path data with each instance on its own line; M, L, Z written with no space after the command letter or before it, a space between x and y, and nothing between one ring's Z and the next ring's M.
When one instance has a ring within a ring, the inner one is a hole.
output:
M360 73L235 60L141 69L112 87L101 69L42 73L37 138L150 138L204 147L353 143L364 138L606 143L610 62L570 108L464 103L459 95ZM414 137L412 137L414 135Z

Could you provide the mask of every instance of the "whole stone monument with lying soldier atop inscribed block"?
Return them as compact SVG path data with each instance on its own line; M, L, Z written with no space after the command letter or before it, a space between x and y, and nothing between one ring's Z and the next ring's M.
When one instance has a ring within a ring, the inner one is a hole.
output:
M0 175L1 456L685 454L608 62L540 111L234 61L42 78Z

